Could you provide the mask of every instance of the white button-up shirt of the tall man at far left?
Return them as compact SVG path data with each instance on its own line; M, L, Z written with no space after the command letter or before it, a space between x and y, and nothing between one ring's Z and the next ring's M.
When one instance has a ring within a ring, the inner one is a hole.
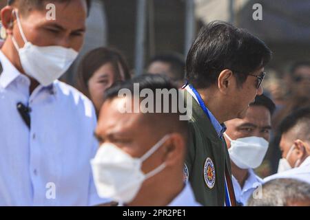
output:
M98 146L90 100L58 80L30 94L30 79L1 51L0 62L0 206L105 203L90 167ZM31 108L30 129L17 102Z

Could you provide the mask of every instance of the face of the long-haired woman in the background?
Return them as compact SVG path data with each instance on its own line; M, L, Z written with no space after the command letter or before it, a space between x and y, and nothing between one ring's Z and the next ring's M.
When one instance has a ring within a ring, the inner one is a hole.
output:
M87 87L90 93L90 99L94 103L97 112L100 111L103 104L105 90L111 87L116 80L125 80L121 65L119 65L119 70L121 76L116 76L116 70L113 65L111 63L106 63L99 67L90 80L88 80Z

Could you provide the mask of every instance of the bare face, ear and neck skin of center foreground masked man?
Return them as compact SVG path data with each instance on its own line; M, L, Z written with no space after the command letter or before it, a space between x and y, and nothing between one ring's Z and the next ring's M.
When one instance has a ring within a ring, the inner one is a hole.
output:
M103 103L95 135L100 144L112 143L132 157L141 157L167 131L149 126L148 116L143 113L121 113L119 109L126 102L126 98L114 98ZM184 187L184 151L185 141L182 135L170 133L169 139L142 164L143 173L154 170L164 162L165 169L145 180L135 199L126 205L165 206L171 202Z

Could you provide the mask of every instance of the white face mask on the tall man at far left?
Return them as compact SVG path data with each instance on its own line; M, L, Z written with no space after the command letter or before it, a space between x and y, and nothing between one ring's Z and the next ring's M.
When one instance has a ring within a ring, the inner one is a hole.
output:
M20 48L14 36L12 36L14 46L19 52L21 66L25 74L36 79L41 85L50 85L69 69L78 56L78 52L72 48L68 49L61 46L39 47L33 45L27 41L23 33L19 13L17 11L14 11L14 13L17 17L19 32L21 32L25 42L23 48Z

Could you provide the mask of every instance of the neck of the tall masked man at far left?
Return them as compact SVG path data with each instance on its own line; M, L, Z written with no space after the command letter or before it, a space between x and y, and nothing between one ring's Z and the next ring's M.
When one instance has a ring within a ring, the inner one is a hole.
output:
M8 36L8 39L6 39L6 41L3 43L1 51L21 74L27 76L23 70L23 67L21 66L21 60L19 59L19 54L16 48L14 47L14 44L10 36ZM37 88L38 85L39 83L37 82L37 80L34 80L34 78L30 78L30 88L29 88L30 94L32 94L32 91L34 91L34 89Z

